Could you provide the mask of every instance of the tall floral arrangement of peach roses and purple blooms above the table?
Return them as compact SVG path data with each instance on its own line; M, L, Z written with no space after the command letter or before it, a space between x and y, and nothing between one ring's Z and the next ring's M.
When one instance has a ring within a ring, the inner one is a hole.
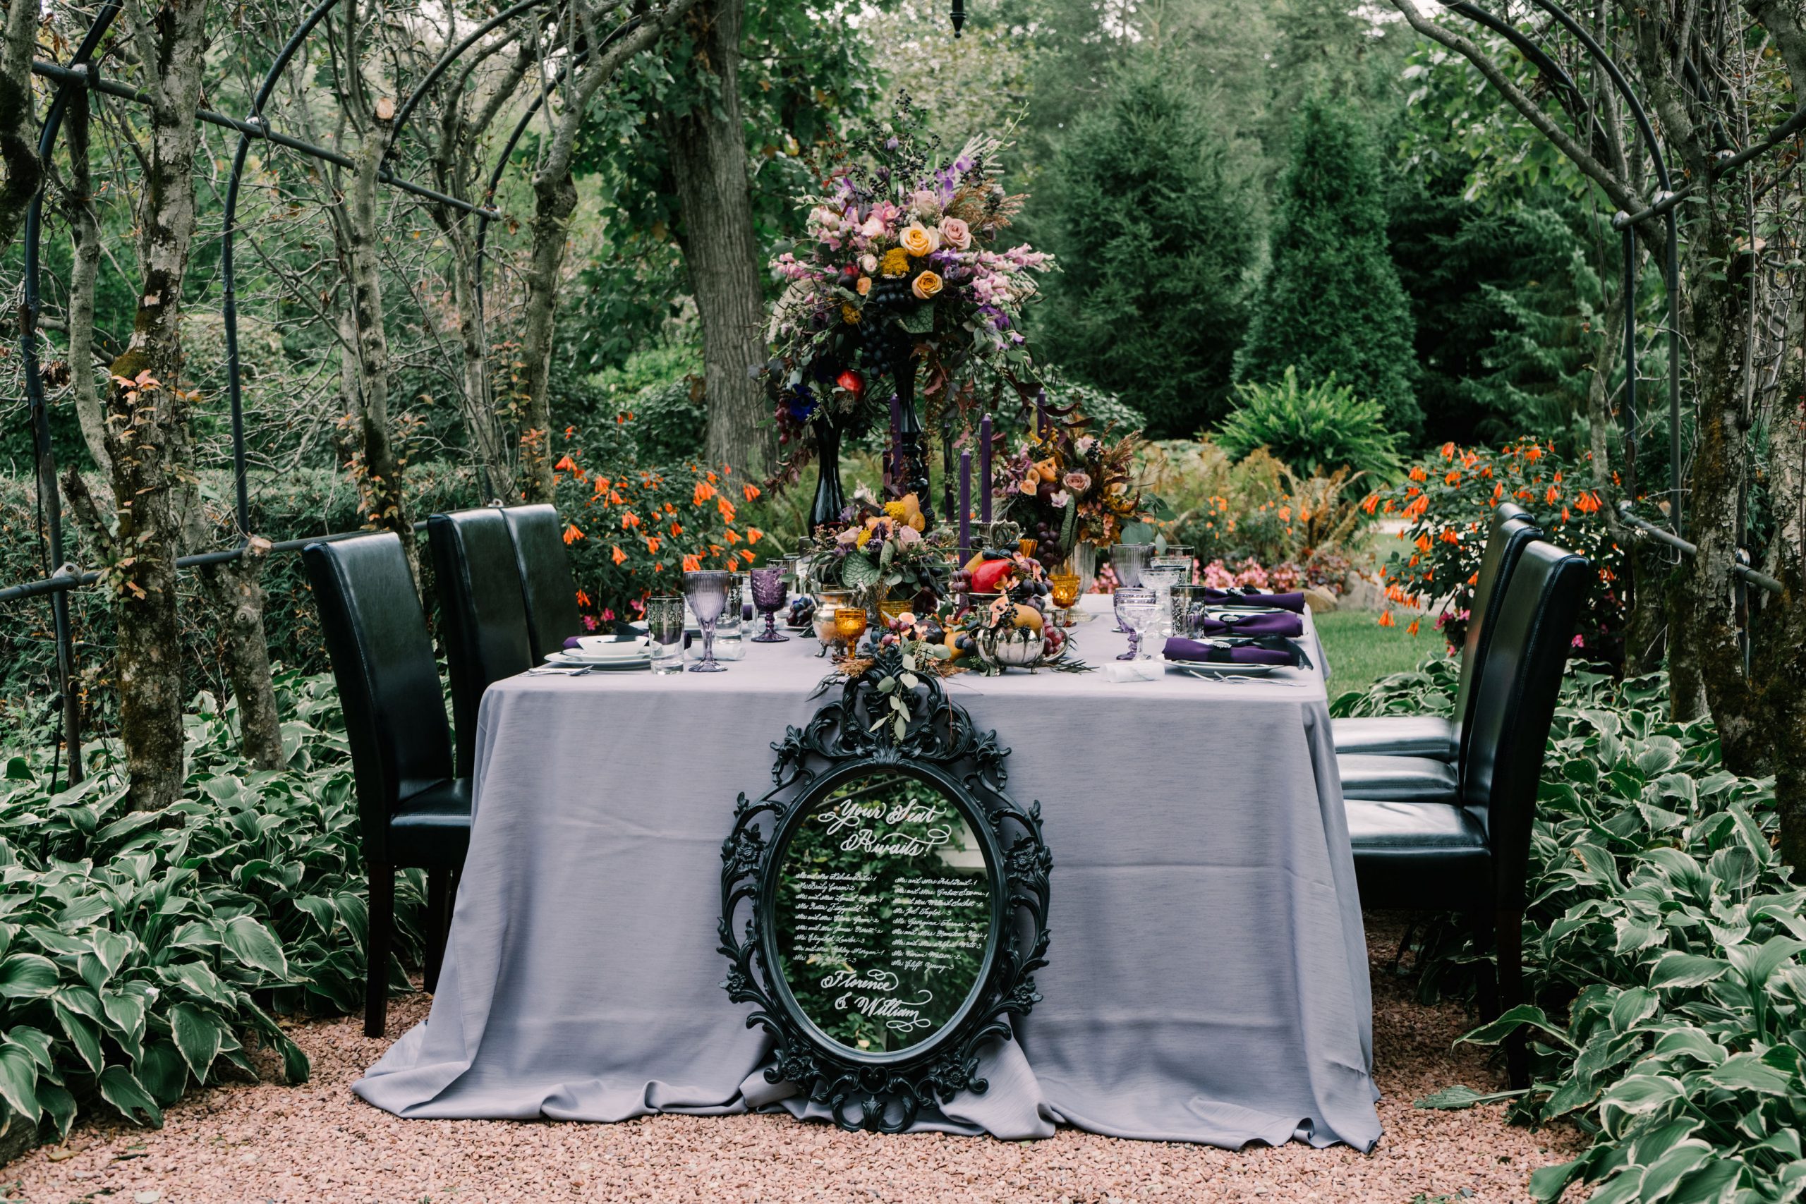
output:
M889 394L880 384L917 366L930 412L986 368L1037 388L1022 307L1053 256L1008 245L1024 197L997 179L1001 139L973 135L941 161L903 97L851 150L860 161L825 171L824 191L804 197L804 238L771 262L784 292L766 368L786 442L824 415L869 422Z

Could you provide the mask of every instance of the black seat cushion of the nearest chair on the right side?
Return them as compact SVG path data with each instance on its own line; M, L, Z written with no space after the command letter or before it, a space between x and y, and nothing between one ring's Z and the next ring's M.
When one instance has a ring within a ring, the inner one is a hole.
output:
M1481 821L1448 803L1344 801L1365 908L1468 912L1492 897Z

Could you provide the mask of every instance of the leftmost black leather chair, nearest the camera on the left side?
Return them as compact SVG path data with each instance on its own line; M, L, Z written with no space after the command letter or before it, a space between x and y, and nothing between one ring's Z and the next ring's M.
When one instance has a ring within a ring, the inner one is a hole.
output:
M363 1031L383 1036L396 930L396 870L428 875L426 989L439 984L450 879L470 847L470 780L452 773L452 733L426 616L394 534L302 549L358 780L370 875Z

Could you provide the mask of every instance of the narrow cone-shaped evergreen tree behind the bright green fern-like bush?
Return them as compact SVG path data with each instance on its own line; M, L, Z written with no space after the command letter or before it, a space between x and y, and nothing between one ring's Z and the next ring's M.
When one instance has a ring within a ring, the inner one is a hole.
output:
M1418 435L1410 303L1387 255L1385 199L1373 141L1354 114L1320 97L1299 110L1280 184L1271 267L1235 357L1235 379L1304 383L1329 374Z

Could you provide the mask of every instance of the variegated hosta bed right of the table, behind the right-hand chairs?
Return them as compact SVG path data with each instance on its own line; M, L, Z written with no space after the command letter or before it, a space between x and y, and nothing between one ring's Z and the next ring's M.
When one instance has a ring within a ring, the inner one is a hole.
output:
M1336 700L1418 706L1429 662ZM1528 1025L1531 1087L1448 1087L1420 1107L1512 1099L1517 1121L1577 1121L1593 1146L1539 1170L1593 1200L1786 1200L1806 1182L1806 892L1773 850L1772 780L1719 762L1708 720L1676 724L1660 675L1571 668L1550 733L1530 847L1530 1004L1465 1040ZM1427 989L1472 989L1481 960L1450 917L1423 937Z

